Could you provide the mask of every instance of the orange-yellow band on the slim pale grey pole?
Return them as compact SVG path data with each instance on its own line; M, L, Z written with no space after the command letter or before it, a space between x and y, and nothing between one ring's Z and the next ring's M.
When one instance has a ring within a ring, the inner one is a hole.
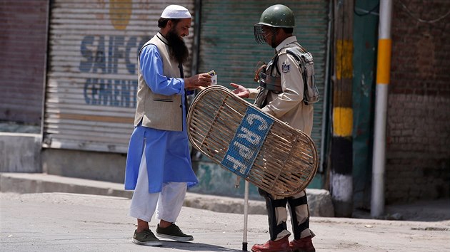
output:
M391 47L390 38L379 39L378 58L376 64L376 84L389 84L391 71Z

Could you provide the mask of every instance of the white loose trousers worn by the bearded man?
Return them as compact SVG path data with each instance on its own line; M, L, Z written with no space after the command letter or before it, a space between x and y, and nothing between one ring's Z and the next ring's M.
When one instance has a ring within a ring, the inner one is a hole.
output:
M186 196L186 182L164 183L161 192L150 194L147 174L146 159L143 154L139 165L136 189L134 189L131 199L129 216L150 222L156 209L155 219L174 223L180 214Z

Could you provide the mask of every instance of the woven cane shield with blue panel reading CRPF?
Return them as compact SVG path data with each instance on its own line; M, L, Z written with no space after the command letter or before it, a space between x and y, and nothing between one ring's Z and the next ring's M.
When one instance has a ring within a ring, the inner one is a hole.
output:
M193 147L270 194L299 193L316 174L311 137L223 86L212 85L196 95L187 123Z

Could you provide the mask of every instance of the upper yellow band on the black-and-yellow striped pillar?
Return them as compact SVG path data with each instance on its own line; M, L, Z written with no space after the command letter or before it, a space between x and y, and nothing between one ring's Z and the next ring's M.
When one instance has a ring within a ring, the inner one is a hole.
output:
M336 78L353 78L353 41L336 41Z

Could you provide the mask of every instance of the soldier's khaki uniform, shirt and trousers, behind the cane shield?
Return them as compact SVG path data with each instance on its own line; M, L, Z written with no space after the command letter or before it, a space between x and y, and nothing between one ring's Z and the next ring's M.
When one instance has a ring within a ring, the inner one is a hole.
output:
M291 127L311 135L314 108L313 105L304 104L304 81L301 69L294 56L286 53L286 48L293 46L296 46L295 36L286 38L276 47L276 52L279 55L277 62L279 73L277 73L275 67L272 67L272 73L281 75L282 91L281 93L275 93L269 90L265 105L261 110L286 122ZM266 74L270 75L271 73L266 72ZM256 98L261 91L261 87L249 89L249 91L249 98ZM286 204L289 204L291 211L294 238L314 236L314 233L309 230L309 208L306 200L306 191L301 191L299 194L288 198L270 195L264 191L260 191L260 194L266 199L271 240L279 240L291 234L286 229Z

